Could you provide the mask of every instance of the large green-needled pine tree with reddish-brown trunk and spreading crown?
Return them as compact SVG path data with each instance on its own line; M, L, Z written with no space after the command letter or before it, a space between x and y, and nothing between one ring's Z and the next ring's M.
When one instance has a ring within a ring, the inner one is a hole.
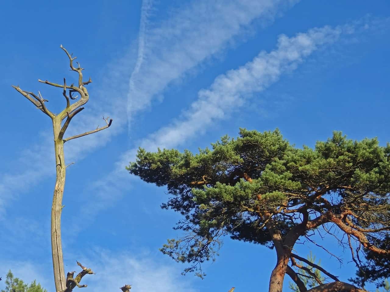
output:
M167 186L170 198L162 207L183 215L176 228L185 235L169 239L161 251L190 263L185 272L203 276L200 264L215 258L221 236L229 234L276 250L269 291L282 291L285 273L306 291L296 260L315 264L293 253L295 243L338 229L337 240L358 267L355 284L364 287L388 276L390 144L334 132L314 149L296 148L279 130L240 129L237 139L225 136L211 145L197 154L140 148L127 167L146 182ZM310 291L355 289L320 270L335 282Z

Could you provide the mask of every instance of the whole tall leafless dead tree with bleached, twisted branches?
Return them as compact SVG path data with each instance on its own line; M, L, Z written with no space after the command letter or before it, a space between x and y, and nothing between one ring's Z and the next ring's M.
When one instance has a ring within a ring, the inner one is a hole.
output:
M53 255L54 281L56 291L71 292L76 286L86 287L86 285L80 285L79 282L85 274L93 274L93 272L91 271L91 269L85 268L79 262L77 262L77 264L82 267L83 271L81 271L76 276L76 278L73 278L74 272L68 273L67 278L65 277L64 273L64 260L61 244L61 211L63 207L62 197L64 194L65 175L67 167L64 158L64 143L69 140L93 134L108 128L111 126L112 119L109 119L109 117L103 117L103 120L105 120L106 122L106 125L104 127L97 127L95 130L74 135L71 137L64 136L71 120L76 114L80 113L84 109L83 106L88 102L89 93L86 86L91 83L92 80L89 78L88 81L83 81L82 71L84 70L84 68L82 68L78 62L76 62L78 67L74 67L73 61L76 59L76 57L72 57L72 55L69 54L68 51L62 45L60 47L64 50L64 52L69 58L71 70L77 72L78 74L77 85L74 85L74 83L67 85L65 78L64 84L57 84L47 80L43 81L38 79L38 81L41 83L62 88L62 95L64 95L64 98L66 100L66 107L60 113L54 114L46 107L45 102L48 102L48 100L44 99L39 91L37 94L35 94L31 91L22 90L19 86L12 87L15 88L19 93L21 93L21 95L30 100L30 102L32 102L32 104L34 104L37 109L48 115L51 118L51 121L53 121L56 182L53 195L53 205L51 207L51 251ZM80 98L77 99L77 97L74 97L74 94L79 95ZM71 100L76 99L77 101L71 103ZM62 125L63 120L65 120L65 122Z

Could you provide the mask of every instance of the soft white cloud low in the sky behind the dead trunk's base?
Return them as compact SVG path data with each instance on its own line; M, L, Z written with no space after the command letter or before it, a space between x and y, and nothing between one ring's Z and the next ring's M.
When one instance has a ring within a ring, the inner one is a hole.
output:
M194 289L190 278L180 275L180 269L156 259L150 252L128 251L110 252L100 248L92 248L88 255L72 255L71 262L66 263L67 271L80 271L76 265L78 259L84 266L92 269L95 275L86 275L82 279L82 284L87 284L89 289L96 292L118 291L119 287L125 284L133 285L133 289L138 292L198 292ZM5 280L5 274L11 269L15 277L26 283L33 280L40 282L43 288L48 291L54 289L53 271L50 264L50 256L35 262L32 260L17 261L1 259L0 272ZM120 291L120 290L119 290Z

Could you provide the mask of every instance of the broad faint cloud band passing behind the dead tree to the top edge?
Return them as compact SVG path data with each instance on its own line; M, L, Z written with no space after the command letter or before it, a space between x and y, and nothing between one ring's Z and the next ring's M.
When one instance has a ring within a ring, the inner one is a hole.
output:
M67 162L76 158L80 161L88 153L104 146L124 130L128 117L147 107L153 96L161 93L171 81L227 46L254 19L269 21L281 9L296 2L298 0L193 1L172 12L169 19L155 23L153 28L147 30L151 25L148 14L152 2L144 0L135 65L131 57L134 50L131 48L128 54L107 66L107 77L99 88L90 92L94 97L93 103L71 123L68 134L79 134L95 128L99 121L102 122L100 114L111 114L114 123L109 130L73 140L71 145L66 145ZM134 68L132 73L131 68ZM126 99L127 113L123 107ZM0 219L4 216L6 202L14 199L18 192L53 174L51 134L41 135L39 145L30 145L31 151L21 153L21 158L15 164L20 166L17 173L7 171L1 176Z

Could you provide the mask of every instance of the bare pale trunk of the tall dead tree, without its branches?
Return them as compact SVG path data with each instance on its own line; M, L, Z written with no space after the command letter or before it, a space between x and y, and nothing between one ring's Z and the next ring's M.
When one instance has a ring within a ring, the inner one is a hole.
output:
M51 206L51 253L53 256L53 271L56 291L66 288L64 259L61 241L61 212L62 197L64 195L66 165L64 158L64 141L58 137L61 129L61 121L53 119L54 149L56 164L56 181Z

